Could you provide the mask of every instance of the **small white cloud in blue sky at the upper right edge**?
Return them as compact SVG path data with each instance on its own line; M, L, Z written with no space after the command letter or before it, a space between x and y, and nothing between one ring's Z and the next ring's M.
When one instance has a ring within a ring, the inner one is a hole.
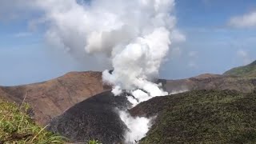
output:
M230 18L228 25L240 28L254 27L256 26L256 11Z

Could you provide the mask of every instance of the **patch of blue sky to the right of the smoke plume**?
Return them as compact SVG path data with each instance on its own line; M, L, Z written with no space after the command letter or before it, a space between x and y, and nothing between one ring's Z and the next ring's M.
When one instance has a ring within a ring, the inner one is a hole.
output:
M166 64L170 68L162 70L165 78L222 74L256 59L256 26L235 28L227 24L234 16L255 11L255 1L180 0L176 1L176 10L186 42L179 46L182 57L170 60ZM195 53L193 57L188 56L191 52Z

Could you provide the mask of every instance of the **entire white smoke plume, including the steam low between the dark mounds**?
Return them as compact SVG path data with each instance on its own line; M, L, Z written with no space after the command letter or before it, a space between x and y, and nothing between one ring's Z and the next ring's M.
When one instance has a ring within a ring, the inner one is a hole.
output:
M170 45L186 39L175 28L174 0L13 1L42 12L30 27L46 25L46 39L53 46L91 66L112 64L114 71L105 70L102 78L114 86L115 95L129 92L133 106L167 94L154 80ZM100 62L91 55L100 55ZM130 128L126 139L145 136L150 119L120 113Z

